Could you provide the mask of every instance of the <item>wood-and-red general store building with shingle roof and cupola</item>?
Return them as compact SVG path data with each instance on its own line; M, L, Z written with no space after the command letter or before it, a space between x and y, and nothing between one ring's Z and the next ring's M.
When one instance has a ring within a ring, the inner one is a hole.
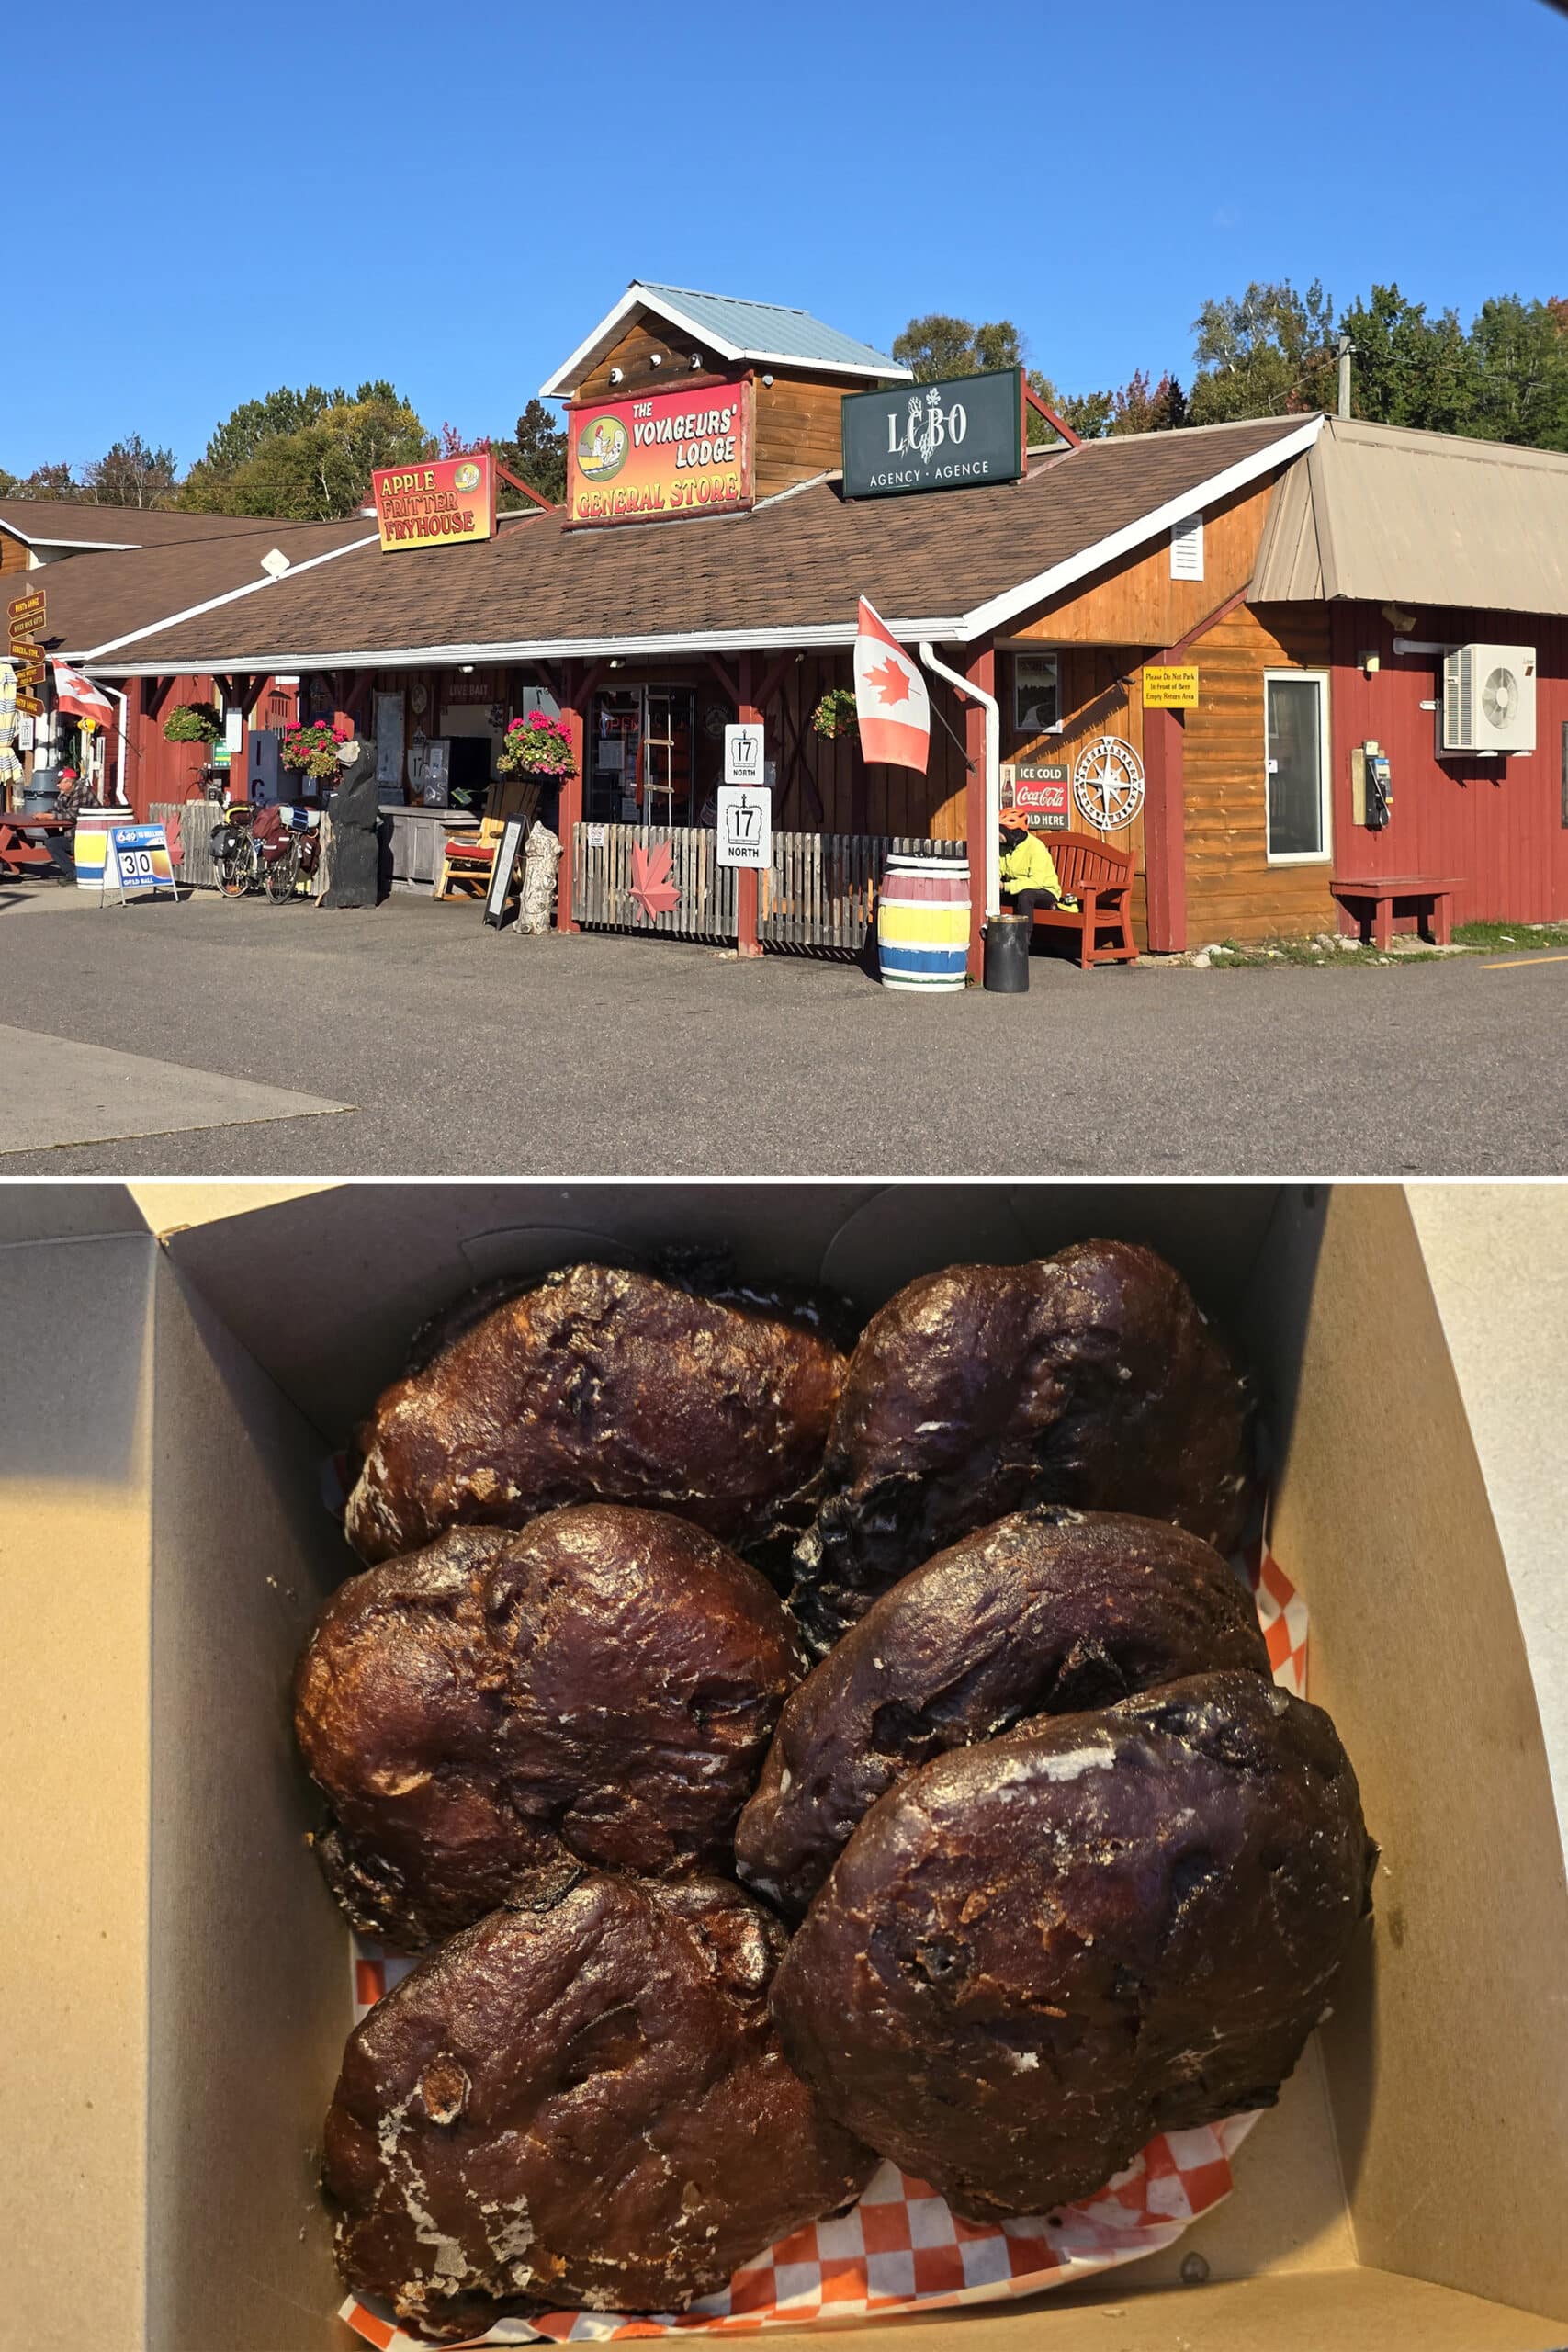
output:
M776 837L865 844L844 873L985 837L978 699L931 677L924 776L813 724L851 684L865 595L997 696L1001 797L1086 830L1081 774L1112 748L1126 821L1103 797L1100 828L1133 856L1140 946L1347 931L1335 884L1378 875L1448 877L1458 920L1568 915L1568 456L1284 416L846 496L844 395L898 379L806 313L632 285L543 386L567 400L564 508L473 546L348 546L73 654L132 729L172 677L254 694L252 722L287 677L303 710L369 729L397 703L400 731L482 762L545 701L578 755L559 920L637 929L595 875L621 828L703 830L736 715L766 729ZM1521 680L1530 724L1514 703L1490 748L1476 713ZM755 917L705 898L658 927L748 946L755 920L785 946L778 873L759 880ZM976 957L983 913L976 889Z

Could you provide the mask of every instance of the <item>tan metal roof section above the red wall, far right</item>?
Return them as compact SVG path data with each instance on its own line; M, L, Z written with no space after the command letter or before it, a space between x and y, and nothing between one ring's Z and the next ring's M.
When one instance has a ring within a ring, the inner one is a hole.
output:
M1253 604L1568 614L1568 454L1331 416L1281 475Z

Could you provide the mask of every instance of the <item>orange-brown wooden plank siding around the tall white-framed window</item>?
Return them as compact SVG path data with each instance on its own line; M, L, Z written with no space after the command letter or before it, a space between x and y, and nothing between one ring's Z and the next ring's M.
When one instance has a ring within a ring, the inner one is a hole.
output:
M1265 670L1326 670L1328 612L1246 604L1192 647L1199 708L1185 722L1187 943L1335 929L1333 858L1269 866L1265 809ZM1333 736L1333 691L1331 691Z

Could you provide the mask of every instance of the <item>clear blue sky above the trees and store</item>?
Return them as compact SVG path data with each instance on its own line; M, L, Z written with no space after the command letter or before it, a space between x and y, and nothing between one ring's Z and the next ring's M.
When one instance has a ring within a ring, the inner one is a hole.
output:
M1542 0L85 0L19 108L49 325L12 306L0 466L200 456L277 383L393 376L505 433L630 278L886 348L1013 318L1063 390L1171 365L1251 278L1469 320L1568 294L1568 16ZM94 64L96 61L96 64ZM101 127L99 127L101 125ZM134 129L134 136L127 132ZM101 256L101 259L99 259ZM26 327L24 327L26 315Z

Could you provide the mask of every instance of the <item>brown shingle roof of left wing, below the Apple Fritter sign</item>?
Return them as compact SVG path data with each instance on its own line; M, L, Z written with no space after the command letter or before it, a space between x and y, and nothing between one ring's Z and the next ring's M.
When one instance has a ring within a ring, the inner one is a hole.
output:
M212 517L197 517L212 520ZM59 654L85 654L127 630L150 628L190 612L233 588L263 583L261 557L282 548L292 564L331 548L348 548L376 524L364 515L348 522L268 522L263 527L176 541L167 548L125 548L108 555L73 555L40 572L7 572L14 595L42 588L49 600L45 642Z

